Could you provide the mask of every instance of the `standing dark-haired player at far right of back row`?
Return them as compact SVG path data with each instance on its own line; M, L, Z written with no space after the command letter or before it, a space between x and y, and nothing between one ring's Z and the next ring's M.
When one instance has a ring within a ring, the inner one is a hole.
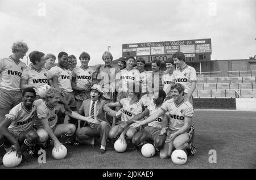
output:
M193 105L193 92L196 89L196 70L195 68L188 66L185 62L185 55L182 52L176 52L172 55L174 64L178 67L172 74L171 83L180 83L184 85L184 100L189 101ZM171 85L166 90L168 94L170 92Z

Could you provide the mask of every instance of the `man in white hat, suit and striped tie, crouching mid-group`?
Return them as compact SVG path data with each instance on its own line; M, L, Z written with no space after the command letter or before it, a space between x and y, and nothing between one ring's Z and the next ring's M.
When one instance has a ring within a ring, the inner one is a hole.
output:
M105 118L103 105L106 104L105 100L100 100L102 95L101 86L94 84L90 88L90 99L84 100L78 113L85 117L92 117L96 123L86 122L79 130L76 131L77 142L91 142L94 145L94 138L101 140L101 148L98 153L103 154L106 152L106 139L108 138L110 125ZM76 142L76 143L77 143Z

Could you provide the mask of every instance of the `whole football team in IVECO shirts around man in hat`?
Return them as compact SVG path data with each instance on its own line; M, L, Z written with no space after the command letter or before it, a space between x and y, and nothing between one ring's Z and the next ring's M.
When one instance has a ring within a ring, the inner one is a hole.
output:
M174 149L195 155L196 71L184 53L154 59L147 72L143 58L122 57L114 66L108 51L104 63L91 68L86 52L76 67L75 55L60 52L55 66L55 55L35 50L27 67L20 61L27 44L15 42L11 50L0 59L0 164L5 152L16 151L26 162L25 152L38 157L52 144L59 151L62 144L94 147L100 140L98 153L104 154L117 139L135 150L151 143L160 158ZM160 70L163 63L166 71Z

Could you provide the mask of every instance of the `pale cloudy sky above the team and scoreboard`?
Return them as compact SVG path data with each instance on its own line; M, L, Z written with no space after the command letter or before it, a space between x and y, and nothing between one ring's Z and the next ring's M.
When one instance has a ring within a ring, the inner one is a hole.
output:
M22 40L28 53L87 52L92 66L108 46L118 59L122 44L211 38L212 60L247 59L256 55L255 7L255 0L0 0L0 57Z

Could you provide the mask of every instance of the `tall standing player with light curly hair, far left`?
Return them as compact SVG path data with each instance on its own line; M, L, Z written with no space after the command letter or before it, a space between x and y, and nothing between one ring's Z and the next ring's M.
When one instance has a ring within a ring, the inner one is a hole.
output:
M11 50L13 54L0 61L0 122L11 108L22 102L20 80L27 66L20 59L26 55L28 47L24 42L15 42Z

